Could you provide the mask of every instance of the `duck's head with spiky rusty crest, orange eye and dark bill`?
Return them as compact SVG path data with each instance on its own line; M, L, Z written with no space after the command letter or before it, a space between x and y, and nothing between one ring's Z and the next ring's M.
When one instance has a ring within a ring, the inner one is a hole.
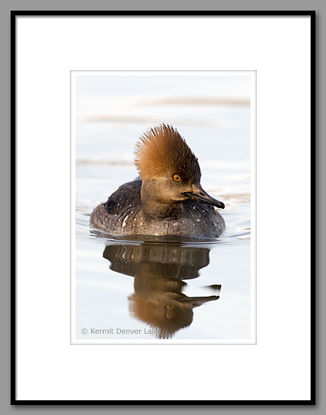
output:
M146 131L136 144L135 156L146 198L170 204L197 199L224 209L224 203L201 187L197 157L171 125Z

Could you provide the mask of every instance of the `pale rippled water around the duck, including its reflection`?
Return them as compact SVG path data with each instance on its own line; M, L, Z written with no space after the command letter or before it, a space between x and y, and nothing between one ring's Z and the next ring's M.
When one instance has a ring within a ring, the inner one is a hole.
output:
M198 77L181 85L177 76L136 78L76 83L74 335L85 343L250 339L250 79L199 77L192 88ZM93 208L138 175L134 144L156 120L178 128L199 158L202 186L225 203L220 238L117 240L90 229Z

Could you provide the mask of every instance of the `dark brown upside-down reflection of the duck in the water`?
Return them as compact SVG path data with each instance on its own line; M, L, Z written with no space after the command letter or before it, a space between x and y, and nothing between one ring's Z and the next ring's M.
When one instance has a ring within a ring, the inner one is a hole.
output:
M199 277L199 270L209 264L209 251L207 247L178 244L114 243L106 246L103 256L113 271L134 276L131 313L150 325L148 332L169 339L192 323L192 308L219 298L187 297L182 292L184 280Z

